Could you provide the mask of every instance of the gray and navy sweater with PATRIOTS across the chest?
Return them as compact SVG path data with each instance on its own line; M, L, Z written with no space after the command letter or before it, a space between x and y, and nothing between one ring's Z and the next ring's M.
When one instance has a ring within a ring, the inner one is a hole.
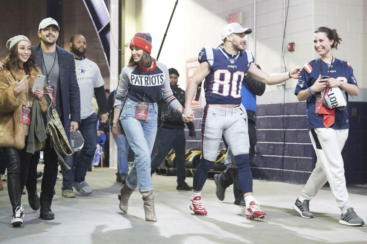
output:
M163 97L174 110L181 106L170 88L167 66L156 61L151 69L134 65L121 70L114 107L122 109L126 96L133 101L149 103L158 102Z

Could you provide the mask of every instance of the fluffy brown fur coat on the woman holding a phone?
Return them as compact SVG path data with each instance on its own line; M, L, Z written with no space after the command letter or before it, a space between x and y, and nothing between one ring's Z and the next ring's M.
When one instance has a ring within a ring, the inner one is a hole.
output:
M7 60L3 60L3 63L6 62ZM20 121L22 105L27 104L26 92L28 92L30 106L33 105L32 87L39 74L42 74L42 72L38 68L32 69L28 79L25 80L26 89L21 91L18 98L16 98L13 93L15 78L18 77L21 81L25 74L20 70L7 70L7 68L0 71L0 147L14 147L18 150L25 147L27 125ZM42 87L41 90L43 89ZM37 97L34 99L37 99ZM46 113L48 105L44 97L39 100L39 104L41 113ZM44 143L38 142L36 151L41 150L43 146Z

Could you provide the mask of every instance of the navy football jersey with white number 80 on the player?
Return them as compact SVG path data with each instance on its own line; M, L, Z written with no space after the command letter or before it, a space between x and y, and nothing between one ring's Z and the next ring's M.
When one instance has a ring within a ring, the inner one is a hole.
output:
M241 104L241 82L254 62L252 53L245 50L232 57L224 48L203 48L198 61L210 66L204 87L207 104Z

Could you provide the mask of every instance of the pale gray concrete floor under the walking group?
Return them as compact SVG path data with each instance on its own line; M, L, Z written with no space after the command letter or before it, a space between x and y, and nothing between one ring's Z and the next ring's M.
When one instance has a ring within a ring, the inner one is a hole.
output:
M24 224L10 225L11 209L6 183L0 191L0 243L367 243L367 225L349 227L338 224L340 217L330 191L320 190L311 201L316 218L298 216L292 204L302 185L254 180L256 199L267 216L247 220L244 207L233 204L232 187L223 202L215 196L213 180L207 180L202 197L207 216L194 215L188 209L190 191L177 191L173 176L153 175L158 222L146 222L143 201L135 191L128 214L119 209L115 170L95 168L87 182L94 192L76 198L62 198L61 181L56 184L52 202L55 219L44 221L39 211L30 209L23 195ZM187 179L192 185L192 177ZM38 187L40 188L40 179ZM367 196L349 194L357 214L367 221Z

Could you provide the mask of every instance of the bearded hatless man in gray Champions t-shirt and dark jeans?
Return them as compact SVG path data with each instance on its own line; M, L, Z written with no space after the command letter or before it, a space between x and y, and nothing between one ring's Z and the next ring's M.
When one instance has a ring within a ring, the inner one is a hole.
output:
M76 166L73 167L74 155L66 163L70 166L69 172L62 172L62 196L75 198L73 187L82 195L92 194L92 189L85 180L87 170L92 164L97 147L97 115L92 108L92 97L95 94L101 122L108 122L107 99L101 72L96 63L84 56L87 52L87 41L83 35L76 34L70 38L70 51L75 57L75 72L80 88L80 119L79 131L84 138L84 146L78 153ZM70 119L70 118L69 118Z

